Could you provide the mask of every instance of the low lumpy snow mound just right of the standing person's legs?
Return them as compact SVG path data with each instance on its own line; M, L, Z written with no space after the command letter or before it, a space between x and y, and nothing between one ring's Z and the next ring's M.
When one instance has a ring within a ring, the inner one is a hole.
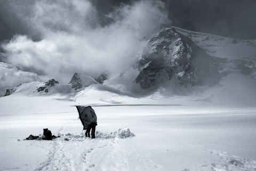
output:
M129 128L119 128L117 131L110 133L101 133L96 131L96 137L102 139L127 139L133 136L135 135L130 132Z

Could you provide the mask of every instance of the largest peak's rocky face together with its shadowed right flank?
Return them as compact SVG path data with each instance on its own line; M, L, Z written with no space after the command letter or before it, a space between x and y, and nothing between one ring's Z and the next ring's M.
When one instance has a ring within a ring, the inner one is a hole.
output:
M214 77L211 84L218 84L221 75L211 60L189 37L175 28L165 27L143 50L135 83L140 84L141 89L152 89L173 79L178 80L179 86L188 87L208 84L205 79Z

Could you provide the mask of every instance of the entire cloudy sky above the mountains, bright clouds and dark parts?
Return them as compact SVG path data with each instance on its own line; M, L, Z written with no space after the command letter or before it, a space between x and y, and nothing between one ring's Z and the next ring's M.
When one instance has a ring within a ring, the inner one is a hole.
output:
M1 1L0 96L33 80L121 72L161 23L256 39L255 9L254 0Z

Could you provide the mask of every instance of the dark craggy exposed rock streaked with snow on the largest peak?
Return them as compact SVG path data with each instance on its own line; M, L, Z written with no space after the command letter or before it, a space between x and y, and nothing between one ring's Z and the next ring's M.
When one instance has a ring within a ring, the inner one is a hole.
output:
M164 28L149 40L148 46L138 62L139 75L135 79L142 89L160 86L178 77L179 85L196 82L191 48L174 28Z

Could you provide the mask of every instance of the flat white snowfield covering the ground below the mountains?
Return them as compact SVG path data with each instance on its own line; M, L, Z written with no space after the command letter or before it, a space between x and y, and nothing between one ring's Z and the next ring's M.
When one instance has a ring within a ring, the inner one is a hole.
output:
M73 95L39 96L31 92L38 84L0 98L1 171L256 170L255 96L252 105L231 106L225 100L234 92L225 86L221 95L213 88L200 96L157 92L134 98L101 85ZM82 132L79 104L92 105L97 113L96 139ZM24 140L43 128L61 137Z

